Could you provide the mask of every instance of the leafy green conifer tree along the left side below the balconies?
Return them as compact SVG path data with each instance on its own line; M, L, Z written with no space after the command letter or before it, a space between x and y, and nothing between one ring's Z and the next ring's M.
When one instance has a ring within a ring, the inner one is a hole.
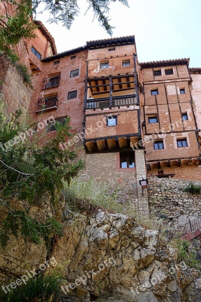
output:
M20 113L8 116L0 106L0 205L4 215L0 220L0 245L6 248L11 235L23 236L25 241L48 244L54 235L62 236L62 225L54 218L35 219L29 214L32 205L45 209L50 202L58 216L59 195L65 181L83 169L76 160L76 145L61 148L66 136L71 136L69 117L62 126L54 125L56 137L45 145L37 142L37 134L31 134L29 123L22 123ZM26 133L27 132L27 133ZM26 133L26 134L25 134Z

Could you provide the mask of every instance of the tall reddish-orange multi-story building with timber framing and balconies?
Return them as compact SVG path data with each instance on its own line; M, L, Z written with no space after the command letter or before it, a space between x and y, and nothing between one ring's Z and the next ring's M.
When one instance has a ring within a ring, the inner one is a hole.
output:
M201 181L200 68L188 68L189 59L138 63L134 36L56 53L54 39L36 23L38 37L18 49L33 87L23 87L16 70L1 71L10 111L29 106L39 134L51 116L62 123L70 116L78 134L70 144L84 146L81 177L109 182L120 200L131 200L142 211L148 212L148 195L140 180L147 175ZM15 77L21 92L29 90L26 97L21 93L15 99L12 86L8 94L6 85ZM48 126L42 140L55 133Z

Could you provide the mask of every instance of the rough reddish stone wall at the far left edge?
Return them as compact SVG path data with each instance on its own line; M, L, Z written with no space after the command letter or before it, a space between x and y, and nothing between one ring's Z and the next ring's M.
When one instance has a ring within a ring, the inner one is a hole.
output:
M15 66L0 55L0 92L1 98L6 103L8 112L15 113L20 108L23 112L29 108L32 87L23 82L22 76Z

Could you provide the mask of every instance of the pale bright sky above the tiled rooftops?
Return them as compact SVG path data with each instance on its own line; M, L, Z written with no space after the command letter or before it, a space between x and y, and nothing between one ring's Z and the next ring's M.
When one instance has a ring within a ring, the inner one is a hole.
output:
M86 11L85 0L78 0L80 15L71 30L46 23L48 14L38 15L55 38L57 51L82 46L89 40L110 36ZM189 57L191 67L201 67L200 0L129 0L130 8L111 5L113 37L135 35L140 62Z

